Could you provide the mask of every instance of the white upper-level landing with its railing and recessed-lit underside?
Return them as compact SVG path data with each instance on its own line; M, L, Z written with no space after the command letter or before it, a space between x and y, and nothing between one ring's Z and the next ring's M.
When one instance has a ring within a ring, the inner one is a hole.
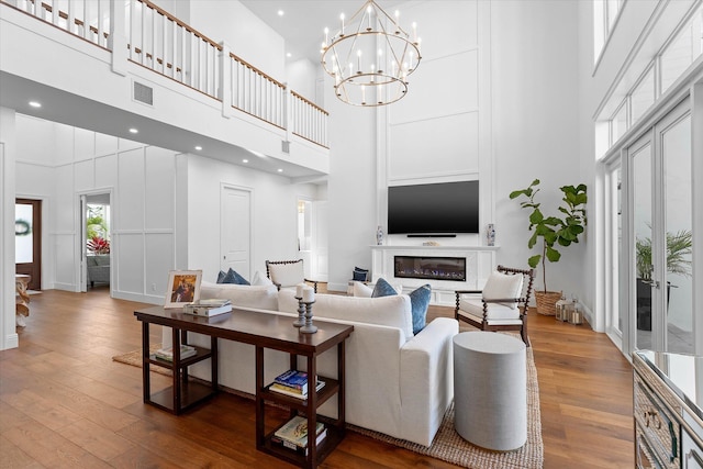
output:
M54 3L0 0L0 105L301 181L328 174L327 113L226 44L147 1Z

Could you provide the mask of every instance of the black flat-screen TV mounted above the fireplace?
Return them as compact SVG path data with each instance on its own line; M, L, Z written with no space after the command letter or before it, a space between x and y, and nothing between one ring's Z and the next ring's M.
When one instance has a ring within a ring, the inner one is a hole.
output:
M388 188L388 233L456 235L479 232L479 181Z

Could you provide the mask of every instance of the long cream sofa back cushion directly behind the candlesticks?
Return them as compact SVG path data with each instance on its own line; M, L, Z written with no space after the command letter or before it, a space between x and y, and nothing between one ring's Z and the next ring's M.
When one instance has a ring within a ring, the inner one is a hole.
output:
M286 313L298 312L295 291L278 292L278 310ZM366 324L398 327L405 339L413 336L413 317L410 297L395 294L382 298L356 298L341 294L319 293L312 308L313 317L343 320Z

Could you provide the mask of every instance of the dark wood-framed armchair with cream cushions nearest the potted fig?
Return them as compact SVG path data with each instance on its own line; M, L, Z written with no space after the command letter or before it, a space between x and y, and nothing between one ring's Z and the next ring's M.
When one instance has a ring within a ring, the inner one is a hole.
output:
M534 269L498 266L483 290L456 290L454 315L481 331L518 331L527 347L527 308Z

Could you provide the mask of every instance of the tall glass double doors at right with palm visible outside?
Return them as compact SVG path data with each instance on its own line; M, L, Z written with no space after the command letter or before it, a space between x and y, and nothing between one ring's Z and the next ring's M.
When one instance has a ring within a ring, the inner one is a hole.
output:
M628 148L635 348L694 350L691 142L684 101Z

